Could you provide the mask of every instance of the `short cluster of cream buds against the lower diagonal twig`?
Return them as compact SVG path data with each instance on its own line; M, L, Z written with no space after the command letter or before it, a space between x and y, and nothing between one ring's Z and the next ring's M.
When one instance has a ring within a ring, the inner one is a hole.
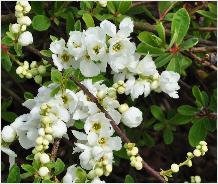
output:
M130 165L135 167L137 170L141 170L142 165L142 157L138 155L139 149L135 146L134 143L124 144L124 148L127 151L127 155L130 156Z

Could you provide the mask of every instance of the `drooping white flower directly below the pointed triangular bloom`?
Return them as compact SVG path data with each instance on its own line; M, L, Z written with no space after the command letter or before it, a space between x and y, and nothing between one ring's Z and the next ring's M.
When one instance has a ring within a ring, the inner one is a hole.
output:
M126 82L125 94L130 94L132 100L138 98L143 93L144 97L147 97L150 94L150 91L150 83L146 80L135 80L135 77L132 76Z

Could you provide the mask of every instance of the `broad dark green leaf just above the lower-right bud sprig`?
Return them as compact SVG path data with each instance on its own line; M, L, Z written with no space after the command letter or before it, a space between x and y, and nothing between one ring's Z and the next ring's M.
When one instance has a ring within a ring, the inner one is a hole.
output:
M206 135L205 119L194 120L188 134L189 144L193 147L197 146L200 141L206 138Z

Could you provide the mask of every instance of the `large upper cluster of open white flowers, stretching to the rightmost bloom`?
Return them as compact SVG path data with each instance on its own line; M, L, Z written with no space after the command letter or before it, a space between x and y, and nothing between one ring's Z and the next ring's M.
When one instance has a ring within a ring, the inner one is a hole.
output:
M173 71L159 74L149 54L143 57L136 53L135 43L130 41L132 32L130 18L120 22L118 31L108 20L83 32L71 31L67 44L64 39L51 43L53 62L60 71L79 68L85 77L106 72L109 64L114 75L113 87L119 94L131 95L133 100L142 94L147 97L152 90L178 98L180 75Z

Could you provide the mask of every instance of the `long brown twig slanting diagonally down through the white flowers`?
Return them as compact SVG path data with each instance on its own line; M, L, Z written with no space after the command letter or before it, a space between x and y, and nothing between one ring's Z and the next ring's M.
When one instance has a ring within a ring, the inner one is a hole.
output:
M116 133L121 137L121 139L125 143L129 143L130 140L126 136L126 134L117 126L116 122L113 120L113 118L108 114L108 112L101 106L101 104L98 102L98 99L89 92L89 90L81 84L74 76L71 77L71 79L75 82L77 86L80 87L81 90L89 97L89 99L94 102L97 107L105 114L105 117L110 120L110 124L113 127L113 129L116 131ZM151 166L149 166L144 160L142 161L144 169L153 177L158 179L160 182L165 182L165 180L160 176L159 172L155 171Z

